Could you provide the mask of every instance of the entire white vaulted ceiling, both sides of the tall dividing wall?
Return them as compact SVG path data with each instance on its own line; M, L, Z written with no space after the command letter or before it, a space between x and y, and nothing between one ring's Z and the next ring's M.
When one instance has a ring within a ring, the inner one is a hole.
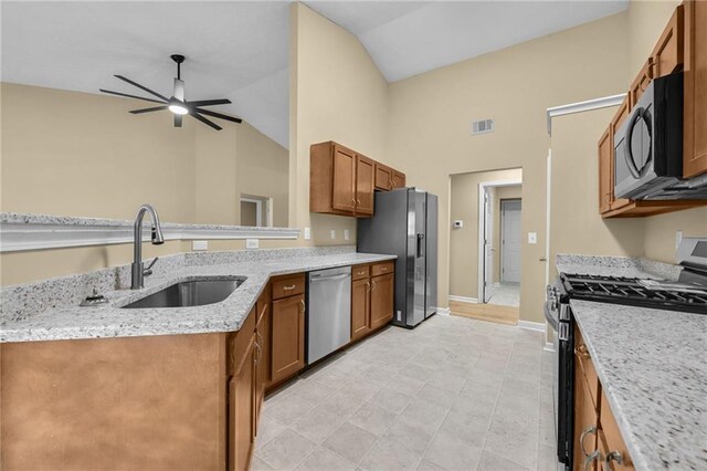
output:
M571 28L620 1L308 1L356 34L390 81ZM138 94L122 74L167 96L182 66L188 100L239 115L288 146L288 2L8 2L2 81ZM140 107L136 102L136 108Z

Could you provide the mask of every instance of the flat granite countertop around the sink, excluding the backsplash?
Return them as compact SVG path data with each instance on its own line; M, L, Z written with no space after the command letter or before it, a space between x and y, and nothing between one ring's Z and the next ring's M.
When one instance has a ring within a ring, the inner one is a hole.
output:
M252 261L221 260L221 263L201 265L176 264L170 270L146 278L145 289L137 292L129 289L103 292L109 302L101 307L78 307L74 303L48 307L22 318L6 318L0 325L0 342L234 332L243 324L271 276L392 259L395 257L350 252ZM245 281L220 303L196 307L119 308L181 281L224 276L244 278Z

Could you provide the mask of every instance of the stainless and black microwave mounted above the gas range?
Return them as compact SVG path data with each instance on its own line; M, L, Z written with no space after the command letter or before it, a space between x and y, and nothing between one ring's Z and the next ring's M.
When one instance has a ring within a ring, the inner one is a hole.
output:
M616 198L663 199L683 176L683 74L653 80L614 134Z

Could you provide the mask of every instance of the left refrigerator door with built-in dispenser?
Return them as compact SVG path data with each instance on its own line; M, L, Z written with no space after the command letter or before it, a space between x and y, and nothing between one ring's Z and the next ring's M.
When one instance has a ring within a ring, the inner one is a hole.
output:
M408 228L410 230L409 239L412 239L412 249L414 251L413 263L411 263L414 271L412 273L412 318L408 317L408 325L415 326L424 321L426 312L426 193L410 190L409 201L412 208L408 211L408 217L412 218L412 220L408 221Z

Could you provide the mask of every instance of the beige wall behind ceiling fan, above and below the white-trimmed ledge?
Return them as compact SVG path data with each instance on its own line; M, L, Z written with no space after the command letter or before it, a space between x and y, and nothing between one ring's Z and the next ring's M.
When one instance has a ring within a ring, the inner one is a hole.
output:
M131 219L149 201L169 222L239 222L239 185L275 197L287 226L288 153L252 126L214 132L163 113L134 116L133 100L2 83L0 210ZM236 146L238 143L238 146ZM238 169L236 165L243 168ZM239 171L241 174L239 174ZM267 178L258 172L267 172ZM250 177L246 184L243 175ZM283 245L292 245L285 241ZM242 248L212 241L212 249ZM263 245L273 245L272 241ZM189 250L189 242L145 244L144 255ZM128 263L131 247L0 254L0 283L24 283Z

